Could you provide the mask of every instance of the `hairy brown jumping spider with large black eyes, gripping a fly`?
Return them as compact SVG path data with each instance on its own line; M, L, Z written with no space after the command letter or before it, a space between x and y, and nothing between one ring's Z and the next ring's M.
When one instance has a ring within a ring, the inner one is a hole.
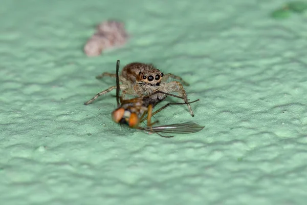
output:
M105 76L116 77L116 74L104 72L101 75L96 76L96 78L101 79ZM168 78L174 78L179 81L175 80L167 83L166 80ZM183 87L183 85L188 86L189 84L177 75L171 73L163 74L152 64L130 63L124 66L121 75L119 75L119 81L121 83L120 89L122 91L121 97L123 99L126 99L126 94L128 94L137 97L148 96L148 98L152 100L162 101L166 98L165 93L176 92L184 100L185 104L188 106L190 114L194 117L192 108L188 103L186 91ZM93 101L99 96L104 95L115 88L116 86L111 86L108 89L101 91L92 99L86 101L84 105L93 103Z

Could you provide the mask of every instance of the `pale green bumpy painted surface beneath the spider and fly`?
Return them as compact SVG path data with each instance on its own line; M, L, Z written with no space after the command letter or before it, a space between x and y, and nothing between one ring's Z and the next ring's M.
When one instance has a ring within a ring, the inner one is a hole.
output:
M1 204L305 204L306 18L270 18L283 1L127 2L2 1ZM114 17L133 38L86 57ZM184 77L195 117L157 118L206 128L165 139L115 125L111 94L83 106L117 59Z

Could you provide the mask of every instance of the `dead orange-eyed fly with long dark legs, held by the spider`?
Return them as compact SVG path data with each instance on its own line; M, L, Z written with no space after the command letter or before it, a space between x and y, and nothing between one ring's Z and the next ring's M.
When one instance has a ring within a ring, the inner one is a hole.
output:
M159 133L194 133L201 131L204 127L196 124L195 122L185 122L182 124L171 124L164 126L152 127L152 125L158 122L151 122L151 117L161 110L165 109L170 105L184 105L191 104L199 101L199 99L190 101L188 103L168 103L165 106L161 107L159 110L152 112L153 107L160 103L163 99L151 98L152 95L164 94L173 97L182 98L181 96L172 95L169 93L164 93L162 91L153 92L144 97L137 97L133 99L124 100L120 96L120 78L119 78L119 60L116 63L116 101L118 108L112 112L112 119L120 124L126 125L130 128L144 130L152 133L156 133L161 137L173 137L173 136L164 136ZM146 116L147 114L147 116ZM147 127L140 127L141 122L147 120Z

